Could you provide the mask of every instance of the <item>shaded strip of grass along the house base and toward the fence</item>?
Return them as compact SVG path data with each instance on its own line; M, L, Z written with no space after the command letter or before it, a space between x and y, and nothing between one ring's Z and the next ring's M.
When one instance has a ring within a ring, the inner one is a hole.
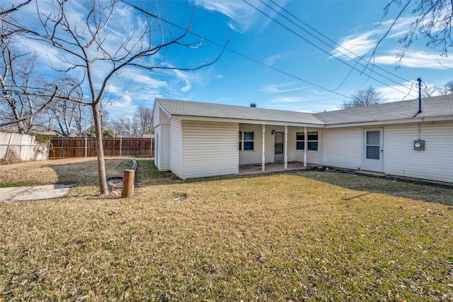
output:
M287 174L296 177L304 177L333 184L346 189L366 192L365 194L377 193L388 194L414 200L442 203L453 206L453 186L430 184L422 181L408 181L403 179L386 179L368 177L342 172L321 171L292 171L271 172L250 175L229 175L221 177L204 177L197 179L181 180L170 172L160 172L154 165L152 158L137 158L137 171L135 174L135 186L137 188L165 184L185 184L190 182L219 181L223 179L250 179L266 175ZM132 167L132 158L105 159L105 173L107 177L122 177L125 169ZM98 170L96 160L84 162L69 162L57 164L52 169L59 176L59 184L76 184L76 186L98 186ZM316 183L314 183L316 185ZM357 195L357 196L360 196Z

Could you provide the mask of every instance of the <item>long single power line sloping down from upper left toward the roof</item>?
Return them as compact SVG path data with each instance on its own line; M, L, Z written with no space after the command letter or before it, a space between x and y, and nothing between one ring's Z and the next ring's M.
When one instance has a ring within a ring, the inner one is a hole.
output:
M151 16L151 17L153 17L153 18L157 18L157 19L159 19L159 20L161 20L161 21L164 21L164 22L170 24L171 26L175 26L176 28L179 28L179 29L181 29L181 30L186 30L186 28L183 28L183 27L181 27L181 26L178 26L177 24L172 23L172 22L170 22L170 21L168 21L168 20L166 20L166 19L164 19L164 18L161 18L161 17L159 17L159 16L156 16L156 15L154 15L154 14L152 14L152 13L149 13L148 11L145 11L144 9L140 9L138 6L134 6L133 4L130 4L130 3L128 3L128 2L125 1L125 0L120 0L120 1L121 1L122 3L124 3L124 4L127 4L127 5L129 5L129 6L132 6L134 9L137 9L138 11L141 11L142 13L147 14L148 16ZM306 83L306 84L310 84L310 85L312 85L312 86L318 87L319 89L323 89L324 91L328 91L328 92L331 92L331 93L333 93L333 94L337 94L338 96L343 96L343 97L345 97L346 99L351 99L350 96L345 96L344 94L340 94L340 93L338 93L338 92L336 92L336 91L333 91L333 90L331 90L331 89L325 88L325 87L320 86L320 85L318 85L318 84L314 84L314 83L309 82L309 81L307 81L307 80L305 80L305 79L302 79L302 78L300 78L300 77L297 77L297 76L295 76L295 75L293 75L293 74L289 74L288 72L285 72L285 71L282 71L282 70L277 69L277 68L275 68L275 67L272 67L272 66L270 66L270 65L267 65L267 64L265 64L265 63L263 63L263 62L260 62L260 61L258 61L258 60L256 60L256 59L253 59L252 57L249 57L248 55L243 55L241 52L237 52L236 50L232 50L232 49L229 48L229 47L226 47L226 46L224 46L224 45L220 45L219 43L214 42L213 40L210 40L210 39L208 39L208 38L205 38L205 37L203 37L202 35L198 35L197 33L194 33L193 31L190 31L190 33L191 33L192 35L195 35L195 36L198 37L198 38L201 38L201 39L203 39L203 40L207 40L208 42L210 42L210 43L212 43L212 44L214 44L214 45L217 45L217 46L219 46L219 47L222 47L222 48L224 48L224 50L228 50L229 52L233 52L234 54L239 55L239 56L241 56L241 57L244 57L244 58L246 58L247 60L250 60L250 61L252 61L252 62L258 63L259 65L262 65L262 66L264 66L264 67L268 67L268 68L270 68L270 69L273 69L274 71L280 72L281 74L285 74L285 75L287 75L288 77L292 77L292 78L297 79L297 80L299 80L299 81L301 81L301 82L304 82L304 83Z

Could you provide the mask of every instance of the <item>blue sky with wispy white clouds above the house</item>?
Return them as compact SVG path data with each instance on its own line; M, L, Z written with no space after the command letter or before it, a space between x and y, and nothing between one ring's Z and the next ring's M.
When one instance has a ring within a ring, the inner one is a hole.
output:
M139 1L129 1L139 5ZM401 16L374 57L369 57L369 50L398 13L394 7L379 23L388 1L274 2L278 6L268 0L159 1L162 15L166 12L171 23L183 28L195 7L191 29L195 35L189 35L186 41L195 42L199 37L203 40L196 50L168 49L159 53L156 60L166 66L196 67L214 60L228 42L227 49L214 65L195 72L123 70L110 82L109 96L113 101L105 106L110 118L131 115L139 105L151 107L156 98L331 111L357 89L367 86L381 91L385 101L399 101L417 97L414 82L418 77L428 86L453 79L449 69L453 68L452 57L440 57L439 51L426 47L421 37L397 64L396 55L401 50L398 38L411 23L408 15ZM89 3L82 0L77 5ZM156 2L151 2L151 6L151 11L155 11ZM34 9L30 5L21 15L28 18ZM124 4L118 9L121 17L116 26L122 26L123 34L139 27L138 19L128 9ZM74 9L73 17L79 18L80 11ZM118 32L111 31L112 43L120 39ZM52 50L33 43L29 47L40 55L40 71L52 74L47 68L50 61L56 64L56 57L49 55ZM369 64L352 60L361 56Z

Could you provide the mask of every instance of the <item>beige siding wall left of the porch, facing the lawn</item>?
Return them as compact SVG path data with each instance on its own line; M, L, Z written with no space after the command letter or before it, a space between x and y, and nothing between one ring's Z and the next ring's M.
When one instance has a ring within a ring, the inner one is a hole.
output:
M181 178L239 174L238 123L183 121Z

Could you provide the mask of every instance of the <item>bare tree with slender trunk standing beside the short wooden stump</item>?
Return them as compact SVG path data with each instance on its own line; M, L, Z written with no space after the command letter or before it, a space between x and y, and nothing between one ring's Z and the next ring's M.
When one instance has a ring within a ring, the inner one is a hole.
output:
M87 2L80 5L76 2L53 0L52 9L48 11L45 9L45 2L47 1L36 1L40 26L28 27L18 22L11 22L11 25L26 38L46 43L47 47L57 52L53 55L62 62L59 71L83 74L79 76L79 82L83 82L89 91L88 104L91 106L96 130L99 187L101 194L108 194L98 104L105 97L112 77L125 67L137 67L149 71L195 70L212 65L218 57L207 64L195 67L173 67L166 65L161 58L154 59L161 50L168 47L190 49L200 47L201 41L185 42L190 33L192 18L187 28L181 29L166 18L161 18L157 8L157 13L150 13L151 7L143 9L124 1L93 0L88 6ZM71 5L77 7L74 8ZM71 15L69 12L72 9L77 13ZM133 30L126 34L124 29L115 23L124 21L122 13L127 9L134 11L134 19L128 21L135 21L135 23ZM78 18L75 18L76 16ZM113 21L114 19L116 22ZM100 76L101 73L103 74Z

